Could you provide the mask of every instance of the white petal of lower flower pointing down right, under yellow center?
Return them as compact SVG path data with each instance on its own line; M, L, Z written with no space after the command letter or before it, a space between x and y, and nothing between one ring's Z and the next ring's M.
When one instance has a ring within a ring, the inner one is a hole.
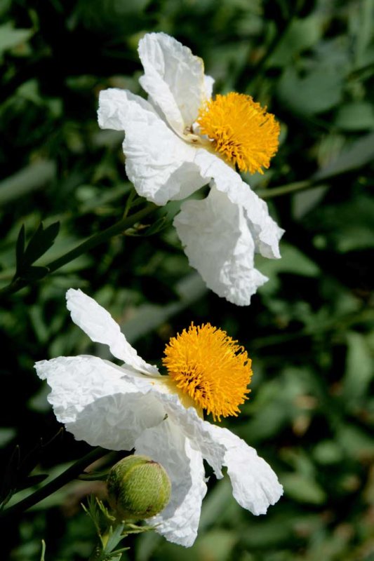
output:
M227 428L203 421L193 407L186 409L176 396L160 394L159 399L171 420L178 419L180 430L212 466L216 477L222 478L222 466L227 466L234 497L243 508L255 515L265 514L280 499L283 487L254 448Z

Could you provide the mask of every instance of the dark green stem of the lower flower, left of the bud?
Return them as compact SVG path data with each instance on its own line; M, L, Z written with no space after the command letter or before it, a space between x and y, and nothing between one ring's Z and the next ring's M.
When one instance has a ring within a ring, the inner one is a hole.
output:
M46 499L47 496L57 491L57 489L60 489L72 479L77 478L78 475L82 471L84 471L84 468L92 464L93 461L102 458L107 453L108 451L104 450L104 448L101 448L100 446L98 446L94 450L91 450L91 452L88 452L86 456L76 461L75 464L67 468L64 473L58 475L57 478L48 482L46 485L44 485L44 487L41 487L41 489L38 489L31 495L27 496L26 499L22 499L22 501L15 503L15 505L9 508L5 508L4 511L0 511L0 518L7 518L8 516L17 515L18 513L26 511L27 508L34 506L34 504L39 503L43 499Z

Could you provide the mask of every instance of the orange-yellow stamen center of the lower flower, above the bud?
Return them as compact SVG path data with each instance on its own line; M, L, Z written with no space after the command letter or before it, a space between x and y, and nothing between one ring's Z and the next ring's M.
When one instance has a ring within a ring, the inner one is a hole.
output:
M210 323L183 330L166 345L163 365L176 386L213 419L234 415L251 390L251 359L225 331Z

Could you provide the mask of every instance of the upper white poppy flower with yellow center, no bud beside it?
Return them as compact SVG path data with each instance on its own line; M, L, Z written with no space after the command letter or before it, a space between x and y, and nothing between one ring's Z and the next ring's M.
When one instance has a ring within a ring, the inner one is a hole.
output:
M126 173L141 196L157 205L209 184L208 197L182 203L174 226L189 263L208 288L246 306L267 277L254 254L278 258L283 234L241 171L260 171L278 147L279 124L249 95L211 100L213 79L203 61L164 33L139 43L148 100L127 90L100 93L101 128L126 132Z

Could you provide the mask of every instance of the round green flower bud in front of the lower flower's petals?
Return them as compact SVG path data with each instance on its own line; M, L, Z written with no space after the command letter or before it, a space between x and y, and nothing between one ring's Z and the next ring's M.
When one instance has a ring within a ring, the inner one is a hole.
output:
M107 491L109 505L120 520L142 520L165 508L171 482L156 461L147 456L128 456L109 471Z

